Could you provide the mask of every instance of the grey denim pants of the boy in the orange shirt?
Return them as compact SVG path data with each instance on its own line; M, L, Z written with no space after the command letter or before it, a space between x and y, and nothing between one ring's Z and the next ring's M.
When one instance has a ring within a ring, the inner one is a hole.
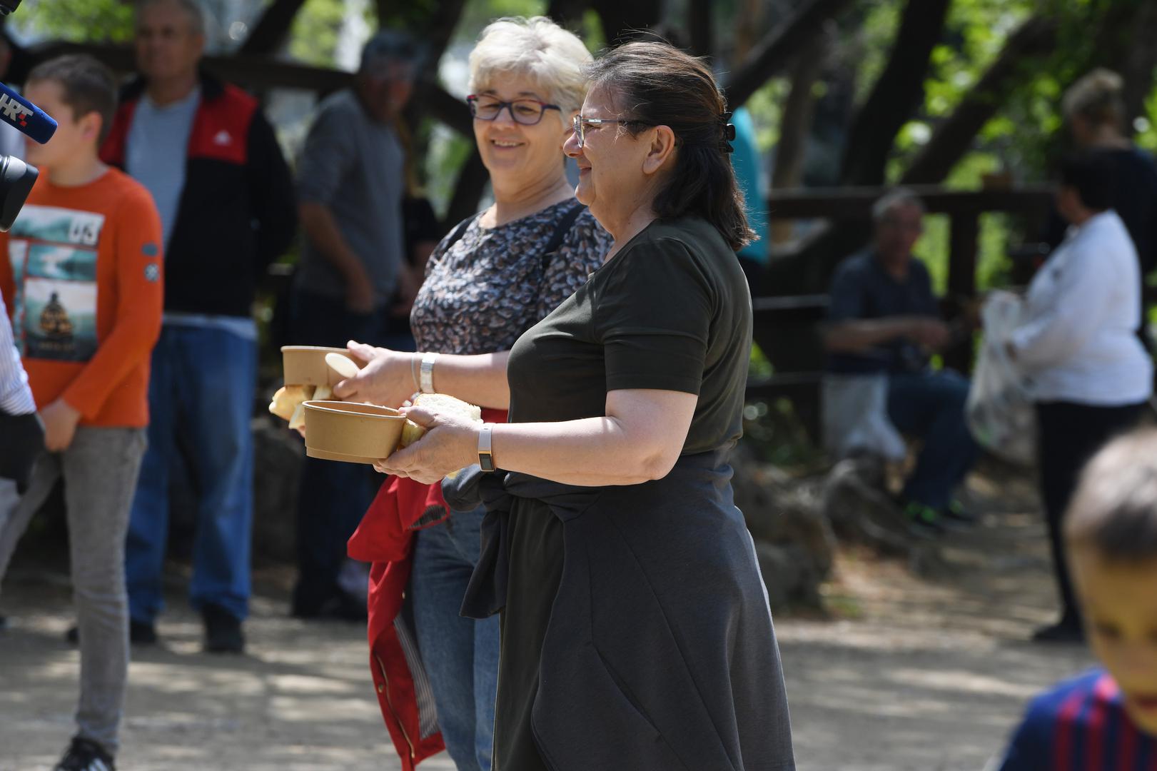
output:
M0 489L0 582L16 542L61 475L68 511L73 601L80 630L78 736L116 754L128 675L125 531L145 454L143 428L81 426L62 453L45 453L22 498ZM15 504L15 505L14 505Z

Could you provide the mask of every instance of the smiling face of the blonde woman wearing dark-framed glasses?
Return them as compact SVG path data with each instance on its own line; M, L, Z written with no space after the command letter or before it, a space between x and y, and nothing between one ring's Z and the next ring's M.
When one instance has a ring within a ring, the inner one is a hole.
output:
M551 95L524 74L498 75L486 88L479 89L478 95L502 102L538 100L553 103ZM569 132L572 115L546 110L533 126L516 123L509 108L502 109L493 120L474 118L474 141L491 172L495 194L521 190L561 174L560 150Z

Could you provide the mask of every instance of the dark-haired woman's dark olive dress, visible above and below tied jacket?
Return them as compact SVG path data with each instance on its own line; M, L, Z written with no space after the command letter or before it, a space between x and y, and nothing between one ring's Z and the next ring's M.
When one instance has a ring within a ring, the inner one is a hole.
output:
M604 416L619 389L684 391L699 402L683 454L709 451L739 436L750 351L751 295L735 254L702 219L656 221L515 343L510 421ZM494 766L546 771L531 714L547 625L555 610L570 612L554 608L563 524L545 504L518 500L503 537Z

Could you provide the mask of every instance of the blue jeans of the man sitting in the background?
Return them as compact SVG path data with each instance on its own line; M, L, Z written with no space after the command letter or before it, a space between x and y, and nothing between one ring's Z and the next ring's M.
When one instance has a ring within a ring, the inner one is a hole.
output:
M972 468L977 443L965 421L967 398L968 379L951 370L889 375L889 419L900 433L923 440L906 499L944 508Z

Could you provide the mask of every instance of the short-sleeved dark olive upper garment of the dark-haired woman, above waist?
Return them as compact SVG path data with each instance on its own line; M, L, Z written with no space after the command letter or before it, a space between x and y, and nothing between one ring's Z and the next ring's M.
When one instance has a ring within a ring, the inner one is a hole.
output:
M510 421L606 414L606 394L697 394L683 454L738 439L751 353L751 294L706 220L656 220L515 343ZM501 463L501 458L498 458Z

